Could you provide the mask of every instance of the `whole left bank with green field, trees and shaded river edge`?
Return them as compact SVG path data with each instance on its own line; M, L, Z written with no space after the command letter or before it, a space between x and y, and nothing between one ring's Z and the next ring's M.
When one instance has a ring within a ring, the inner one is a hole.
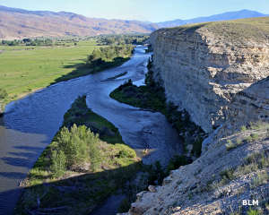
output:
M123 64L132 55L133 44L146 38L119 35L3 40L0 86L8 93L4 104L50 84Z

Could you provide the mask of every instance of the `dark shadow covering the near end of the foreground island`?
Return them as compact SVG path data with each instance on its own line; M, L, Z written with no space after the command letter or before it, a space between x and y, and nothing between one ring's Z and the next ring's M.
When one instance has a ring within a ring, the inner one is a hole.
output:
M141 162L137 161L122 168L26 187L15 214L90 214L108 196L133 179L140 168Z

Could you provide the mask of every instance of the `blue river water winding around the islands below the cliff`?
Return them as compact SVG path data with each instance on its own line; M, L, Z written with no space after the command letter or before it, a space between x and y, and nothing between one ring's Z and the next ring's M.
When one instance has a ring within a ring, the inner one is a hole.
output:
M40 153L52 140L63 116L78 96L87 95L87 105L117 126L123 140L143 157L144 163L167 163L181 152L178 134L160 113L130 107L109 98L109 93L132 79L143 84L150 54L136 47L125 64L101 73L59 82L44 90L8 104L0 118L0 214L13 214L20 194L19 183L25 178ZM119 73L125 76L105 81ZM105 82L103 82L105 81Z

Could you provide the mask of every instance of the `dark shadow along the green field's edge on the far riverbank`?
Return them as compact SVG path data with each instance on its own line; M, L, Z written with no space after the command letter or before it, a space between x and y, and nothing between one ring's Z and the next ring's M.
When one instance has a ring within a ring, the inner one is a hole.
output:
M91 73L99 73L103 70L124 64L129 59L130 57L115 57L113 61L104 61L99 58L92 61L91 64L84 60L84 63L64 65L63 68L73 69L73 71L57 78L54 82L51 82L50 85L55 84L56 82L68 81Z

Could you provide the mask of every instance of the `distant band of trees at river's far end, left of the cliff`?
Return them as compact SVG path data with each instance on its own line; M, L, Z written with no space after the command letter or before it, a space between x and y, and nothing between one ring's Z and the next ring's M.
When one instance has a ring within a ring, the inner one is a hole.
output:
M124 44L142 45L148 38L148 35L108 35L98 37L97 42L102 46Z

